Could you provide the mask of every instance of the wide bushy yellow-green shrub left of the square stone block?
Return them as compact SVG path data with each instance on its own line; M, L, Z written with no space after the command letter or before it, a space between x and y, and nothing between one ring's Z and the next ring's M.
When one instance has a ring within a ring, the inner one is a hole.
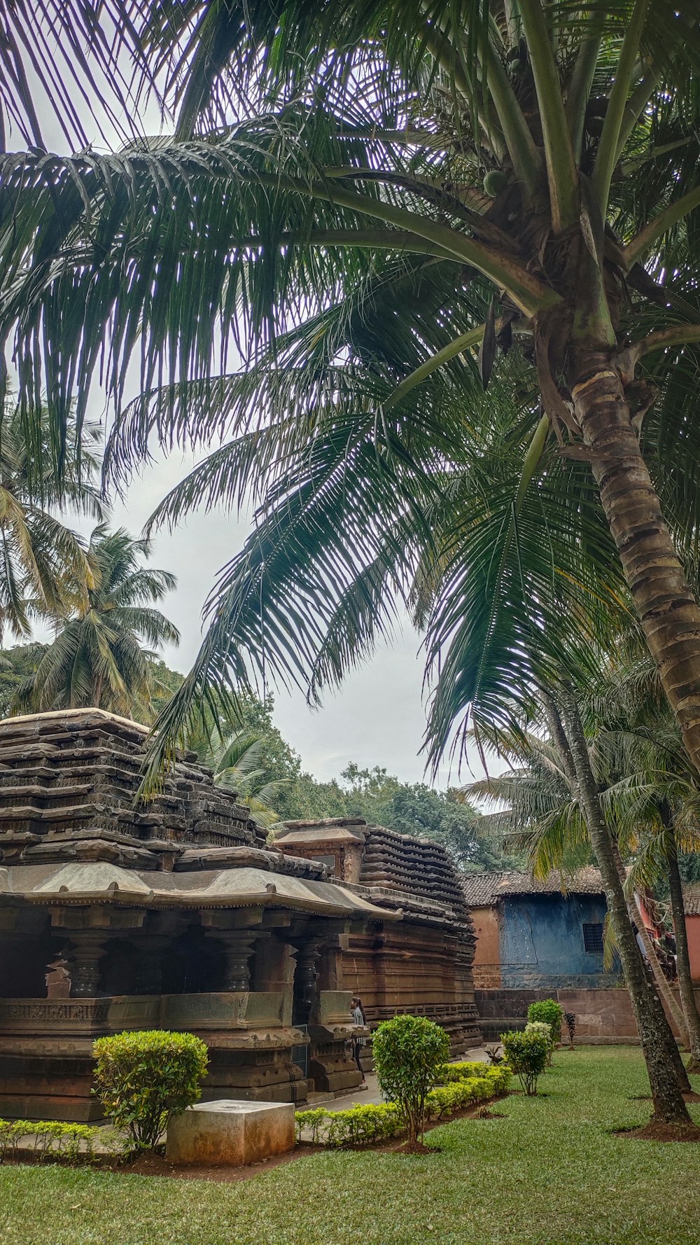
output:
M126 1128L136 1149L152 1149L168 1116L179 1116L201 1097L207 1047L193 1033L149 1030L100 1037L95 1093L116 1128Z

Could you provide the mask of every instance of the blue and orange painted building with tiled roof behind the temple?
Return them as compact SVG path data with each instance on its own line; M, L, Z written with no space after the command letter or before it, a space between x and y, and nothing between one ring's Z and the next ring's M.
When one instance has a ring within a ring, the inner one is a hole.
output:
M483 989L600 989L620 985L603 966L605 893L598 869L533 881L472 874L463 890L477 931L475 985ZM497 960L497 962L494 962Z

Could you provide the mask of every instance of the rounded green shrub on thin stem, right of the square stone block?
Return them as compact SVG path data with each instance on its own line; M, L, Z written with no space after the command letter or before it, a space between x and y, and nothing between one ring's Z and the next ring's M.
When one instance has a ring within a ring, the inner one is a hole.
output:
M394 1016L375 1030L372 1053L379 1087L397 1106L415 1142L423 1130L426 1094L447 1062L450 1038L425 1016Z

